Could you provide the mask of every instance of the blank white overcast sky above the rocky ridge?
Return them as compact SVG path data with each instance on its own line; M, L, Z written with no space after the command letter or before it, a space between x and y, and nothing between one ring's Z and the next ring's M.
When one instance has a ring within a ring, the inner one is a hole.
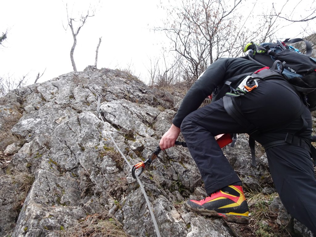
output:
M67 31L63 28L63 24L66 27L68 23L65 6L67 3L69 14L79 19L81 13L86 14L89 3L95 5L96 1L1 1L0 34L8 29L8 38L4 47L0 46L0 76L20 78L28 73L29 83L33 83L38 72L41 74L45 68L38 82L73 71L70 62L73 38L70 28ZM265 6L269 6L267 1L273 0L264 1ZM147 83L149 58L159 56L165 39L159 32L150 30L161 26L161 19L166 18L164 11L157 7L161 2L101 0L95 16L87 19L77 36L74 52L77 70L94 65L96 46L102 36L98 68L126 69L131 66L134 75ZM281 5L285 0L275 2ZM296 0L290 2L297 3ZM288 33L292 31L293 28Z

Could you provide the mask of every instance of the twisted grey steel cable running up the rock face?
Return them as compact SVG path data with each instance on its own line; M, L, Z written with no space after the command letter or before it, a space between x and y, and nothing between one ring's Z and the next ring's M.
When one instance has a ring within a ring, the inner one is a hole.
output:
M97 111L98 111L98 113L99 113L99 118L103 121L103 123L105 123L104 120L103 120L103 118L102 118L102 116L101 116L100 100L101 100L101 95L98 95ZM110 136L110 138L111 138L111 140L112 140L114 146L115 146L116 149L119 151L119 153L122 155L122 157L123 157L123 159L125 160L126 164L127 164L130 168L132 168L131 164L128 162L128 160L126 159L125 155L124 155L123 152L119 149L118 145L117 145L116 142L114 141L114 139L113 139L113 137L112 137L112 135L111 135L111 133L110 133L110 131L109 131L109 129L108 129L107 127L106 127L106 131L107 131L107 133L109 134L109 136ZM160 232L159 232L159 228L158 228L158 224L157 224L157 222L156 222L155 215L154 215L154 212L153 212L153 210L152 210L152 207L151 207L149 198L148 198L148 196L147 196L147 194L146 194L144 185L143 185L143 183L140 181L140 179L138 178L138 176L134 177L134 179L135 179L135 178L136 178L136 180L137 180L137 182L138 182L138 184L139 184L139 186L140 186L140 188L141 188L141 190L142 190L142 192L143 192L143 195L144 195L144 197L145 197L146 204L147 204L148 210L149 210L150 215L151 215L151 219L152 219L153 222L154 222L154 227L155 227L155 231L156 231L157 237L161 237Z

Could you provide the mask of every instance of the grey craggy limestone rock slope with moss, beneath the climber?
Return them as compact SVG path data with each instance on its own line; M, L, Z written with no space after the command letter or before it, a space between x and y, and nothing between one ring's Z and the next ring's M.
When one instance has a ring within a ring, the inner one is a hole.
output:
M104 123L96 109L99 95ZM10 91L0 99L0 236L90 236L98 231L107 233L102 236L156 236L139 185L110 135L132 165L147 159L181 98L176 91L149 88L128 73L93 66ZM258 165L251 166L246 135L224 152L246 190L275 192L259 146ZM206 196L186 148L161 152L141 180L161 236L245 236L242 225L185 209L187 198ZM269 209L290 233L312 236L278 197L269 201Z

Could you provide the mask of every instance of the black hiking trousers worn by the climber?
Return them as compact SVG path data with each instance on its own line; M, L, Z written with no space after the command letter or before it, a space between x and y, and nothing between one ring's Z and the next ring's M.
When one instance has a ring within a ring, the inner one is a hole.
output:
M284 140L288 132L300 131L301 137L310 139L311 114L307 107L299 114L304 105L292 90L263 81L258 88L235 101L248 121L259 129L264 128L265 132L256 137L261 144ZM190 113L182 122L181 132L208 194L240 181L214 137L249 131L227 114L222 99ZM309 151L295 145L282 145L268 149L267 158L283 205L316 233L316 178Z

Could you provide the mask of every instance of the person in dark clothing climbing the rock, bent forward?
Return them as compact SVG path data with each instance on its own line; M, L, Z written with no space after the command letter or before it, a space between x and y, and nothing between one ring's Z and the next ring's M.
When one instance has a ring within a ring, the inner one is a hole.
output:
M316 178L309 149L312 118L300 95L275 76L282 82L261 80L249 93L230 97L234 112L240 111L249 126L226 111L225 93L237 86L245 73L250 75L261 68L243 58L221 58L211 64L188 90L159 145L162 150L172 147L180 132L185 138L208 195L202 200L188 200L189 210L245 223L249 210L242 182L214 137L248 133L263 146L278 143L265 148L276 190L287 211L316 233ZM228 86L225 82L230 78L234 80ZM199 108L214 91L217 94L213 93L212 103Z

